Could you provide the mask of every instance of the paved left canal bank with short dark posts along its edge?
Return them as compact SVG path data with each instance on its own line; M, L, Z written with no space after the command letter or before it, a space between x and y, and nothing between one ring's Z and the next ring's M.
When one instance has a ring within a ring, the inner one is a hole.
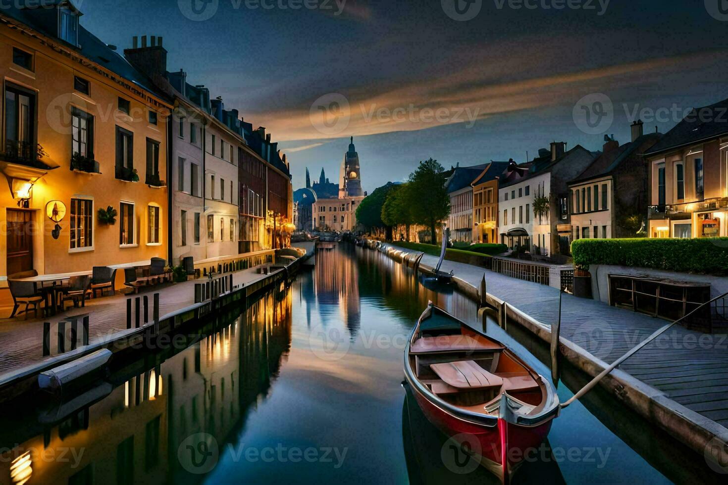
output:
M245 300L270 286L288 284L307 257L310 254L289 258L283 263L266 262L215 278L197 278L150 289L141 295L117 294L108 297L103 305L74 308L53 318L52 326L48 325L50 332L45 332L43 321L6 329L2 332L6 342L2 356L4 360L12 358L12 362L5 363L6 368L12 367L0 374L0 401L33 394L38 390L37 377L41 372L72 363L98 350L110 350L113 362L173 345L175 334L194 329L230 308L244 305ZM141 302L153 300L160 302L157 308L141 305ZM91 335L82 336L84 316L88 316ZM71 325L73 340L62 344L60 341L67 338L69 332L64 332L62 337L58 329L71 330ZM76 345L82 339L86 345ZM65 348L61 348L62 345ZM50 350L50 356L44 356L44 347Z

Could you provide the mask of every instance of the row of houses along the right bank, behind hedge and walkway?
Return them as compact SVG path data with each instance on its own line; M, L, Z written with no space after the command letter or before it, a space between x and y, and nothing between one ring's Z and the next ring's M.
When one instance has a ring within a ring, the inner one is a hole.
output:
M554 142L523 164L454 167L451 237L558 260L577 239L728 236L727 112L696 108L665 135L638 120L601 151Z

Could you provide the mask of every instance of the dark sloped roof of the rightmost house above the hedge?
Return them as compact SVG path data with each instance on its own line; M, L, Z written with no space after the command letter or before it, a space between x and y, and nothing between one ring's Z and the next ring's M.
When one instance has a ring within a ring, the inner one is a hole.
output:
M694 109L673 129L665 133L645 155L654 155L673 148L692 145L728 134L728 100Z

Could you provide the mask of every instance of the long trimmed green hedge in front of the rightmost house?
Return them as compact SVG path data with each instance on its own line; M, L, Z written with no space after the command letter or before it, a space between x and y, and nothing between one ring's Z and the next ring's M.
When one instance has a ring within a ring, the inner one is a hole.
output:
M728 275L728 238L579 239L571 244L577 268L617 265Z

